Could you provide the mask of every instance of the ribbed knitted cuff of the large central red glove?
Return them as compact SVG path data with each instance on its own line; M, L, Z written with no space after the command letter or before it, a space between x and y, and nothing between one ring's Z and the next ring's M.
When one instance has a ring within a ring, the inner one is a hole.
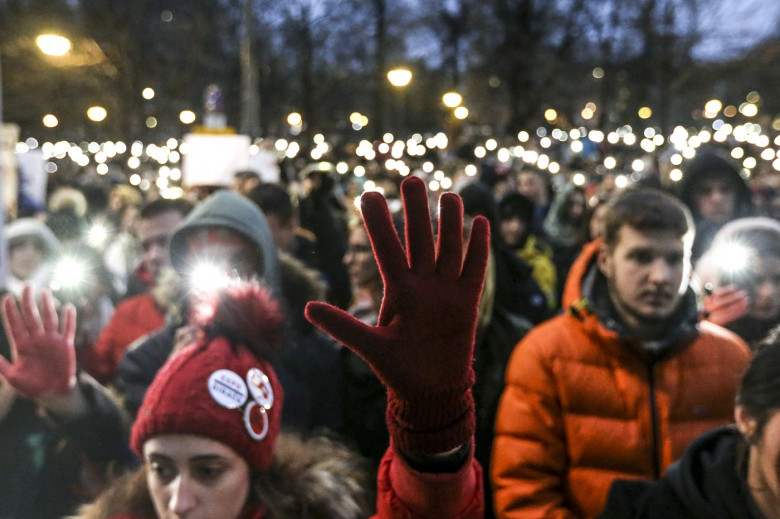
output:
M393 445L412 454L447 452L471 440L476 427L471 388L402 400L387 399L387 428Z

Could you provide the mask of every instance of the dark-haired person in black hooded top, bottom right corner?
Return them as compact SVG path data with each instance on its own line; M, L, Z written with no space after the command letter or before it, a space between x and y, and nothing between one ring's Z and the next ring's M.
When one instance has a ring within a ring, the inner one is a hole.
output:
M703 434L659 481L616 481L600 519L780 517L780 328L742 378L736 426Z

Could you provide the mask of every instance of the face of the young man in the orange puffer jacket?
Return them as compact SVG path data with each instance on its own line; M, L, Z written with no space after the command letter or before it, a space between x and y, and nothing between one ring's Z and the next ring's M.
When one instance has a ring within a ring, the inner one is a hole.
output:
M690 243L672 231L640 232L624 225L614 246L602 246L598 261L625 324L634 330L657 327L685 293Z

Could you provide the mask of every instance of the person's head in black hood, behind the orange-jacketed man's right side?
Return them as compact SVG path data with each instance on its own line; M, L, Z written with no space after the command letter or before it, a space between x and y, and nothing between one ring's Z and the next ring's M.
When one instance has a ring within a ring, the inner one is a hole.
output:
M723 224L753 214L753 202L739 170L713 151L700 152L688 164L678 195L696 224L694 265Z

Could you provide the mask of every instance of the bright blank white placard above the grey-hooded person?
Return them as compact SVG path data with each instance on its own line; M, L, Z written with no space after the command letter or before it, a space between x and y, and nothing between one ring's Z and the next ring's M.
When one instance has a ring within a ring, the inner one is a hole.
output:
M249 166L250 143L248 135L185 135L187 151L182 160L182 185L232 185L236 172Z

